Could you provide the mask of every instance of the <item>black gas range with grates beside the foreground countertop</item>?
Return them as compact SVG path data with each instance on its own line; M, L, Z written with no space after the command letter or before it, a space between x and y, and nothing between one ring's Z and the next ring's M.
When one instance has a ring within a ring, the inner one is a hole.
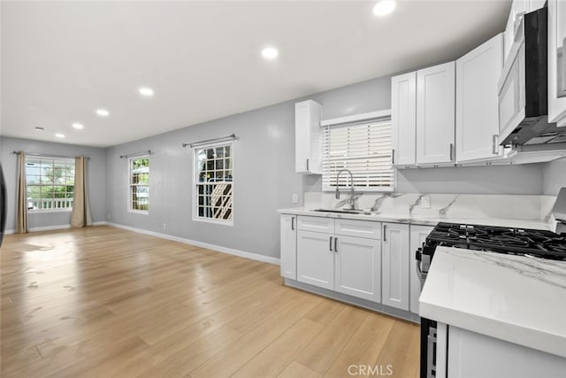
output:
M566 189L562 190L563 204L566 205ZM563 209L566 214L566 207ZM417 272L423 284L438 246L566 261L566 234L558 235L539 229L440 222L416 252ZM436 374L436 328L436 321L421 318L421 378L431 378Z

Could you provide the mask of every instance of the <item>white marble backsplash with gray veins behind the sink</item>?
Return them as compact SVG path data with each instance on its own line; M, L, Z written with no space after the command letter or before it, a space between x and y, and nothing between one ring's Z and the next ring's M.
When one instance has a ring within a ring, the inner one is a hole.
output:
M430 208L424 208L424 200ZM538 195L476 195L434 193L356 193L356 209L371 209L381 214L397 214L408 219L471 219L553 221L555 196ZM306 192L305 209L348 207L349 193Z

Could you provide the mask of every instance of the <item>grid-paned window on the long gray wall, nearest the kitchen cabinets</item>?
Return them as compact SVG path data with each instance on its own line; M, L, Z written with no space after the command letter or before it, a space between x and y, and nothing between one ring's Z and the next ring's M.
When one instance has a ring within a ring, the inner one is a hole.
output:
M195 149L195 219L232 224L233 143Z

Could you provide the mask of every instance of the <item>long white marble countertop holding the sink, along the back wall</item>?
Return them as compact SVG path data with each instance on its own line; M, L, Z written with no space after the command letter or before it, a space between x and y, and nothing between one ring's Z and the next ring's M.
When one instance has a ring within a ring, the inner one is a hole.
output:
M323 218L342 218L348 220L374 220L379 222L407 223L415 225L435 226L438 222L463 223L469 225L499 226L508 228L532 228L555 231L555 224L545 220L509 220L500 218L463 219L463 218L432 218L422 216L407 217L402 214L378 212L371 214L348 214L337 212L314 212L304 207L279 209L280 214L308 215Z

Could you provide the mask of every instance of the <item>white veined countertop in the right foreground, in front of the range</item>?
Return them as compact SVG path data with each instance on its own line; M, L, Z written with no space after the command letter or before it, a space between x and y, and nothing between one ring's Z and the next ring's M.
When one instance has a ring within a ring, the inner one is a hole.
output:
M438 247L420 315L566 357L566 262Z

